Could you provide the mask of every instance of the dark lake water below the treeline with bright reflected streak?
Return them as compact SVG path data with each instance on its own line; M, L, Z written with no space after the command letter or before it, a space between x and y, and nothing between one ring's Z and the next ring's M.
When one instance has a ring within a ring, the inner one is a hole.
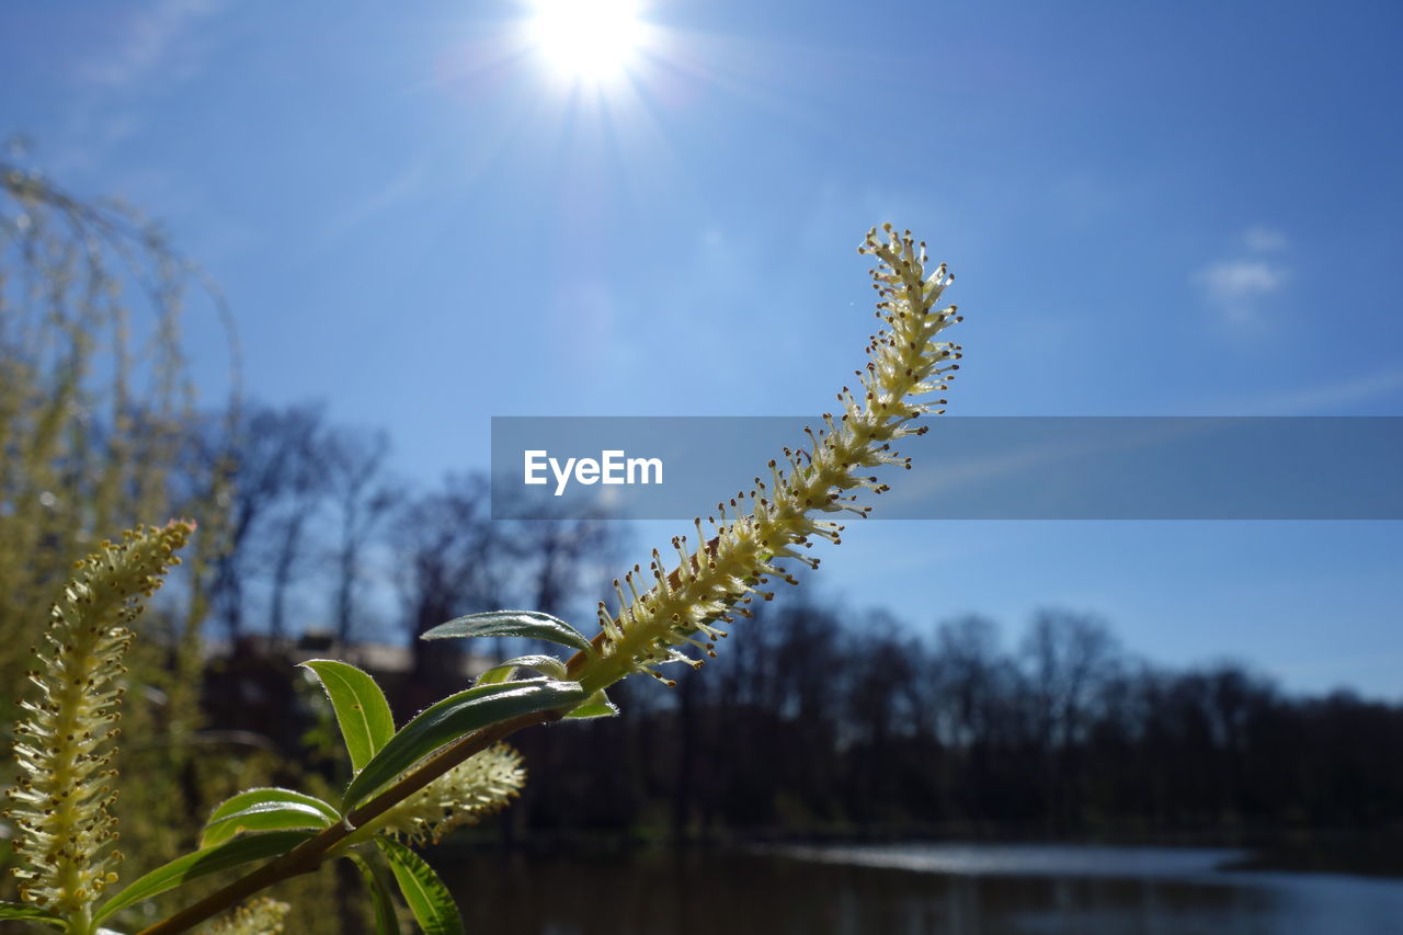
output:
M1403 880L1221 869L1242 852L895 845L441 862L498 935L1399 935Z

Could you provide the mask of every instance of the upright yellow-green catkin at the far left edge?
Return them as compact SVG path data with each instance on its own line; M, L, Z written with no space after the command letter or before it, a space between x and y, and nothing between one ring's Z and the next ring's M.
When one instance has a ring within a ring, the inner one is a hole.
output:
M77 564L35 649L38 668L28 677L38 695L21 702L28 712L15 727L21 772L7 792L6 814L20 831L20 897L76 924L74 931L87 931L88 907L116 882L122 859L108 849L116 838L109 813L116 772L104 767L121 717L123 689L114 682L126 671L128 625L142 614L140 599L180 564L174 552L194 529L192 522L173 521L104 542Z

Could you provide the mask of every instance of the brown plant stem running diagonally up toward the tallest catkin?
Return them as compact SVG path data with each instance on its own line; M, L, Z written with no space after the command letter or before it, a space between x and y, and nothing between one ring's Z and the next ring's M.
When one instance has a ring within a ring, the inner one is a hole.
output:
M407 772L403 779L348 814L344 823L325 828L317 837L303 841L292 851L264 863L229 886L206 896L198 903L192 903L154 925L143 928L137 935L174 935L175 932L189 931L199 922L233 908L260 890L302 873L311 873L321 866L321 861L325 859L328 852L351 837L356 828L380 817L473 754L487 750L522 727L560 720L561 716L561 712L535 712L474 730Z

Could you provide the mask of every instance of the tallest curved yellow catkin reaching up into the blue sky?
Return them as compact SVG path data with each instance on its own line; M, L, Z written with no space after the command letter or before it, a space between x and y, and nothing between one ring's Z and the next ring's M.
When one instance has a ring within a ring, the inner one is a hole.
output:
M954 277L944 264L927 275L925 243L891 225L868 230L857 251L877 258L873 286L884 323L867 345L867 365L854 371L861 392L845 386L838 393L843 413L825 416L822 431L804 430L808 448L784 448L783 460L769 462L769 484L756 479L748 501L742 493L730 503L731 510L723 504L714 538L707 541L697 519L694 552L680 545L685 538L673 539L680 562L665 578L659 576L643 601L619 595L617 612L595 640L600 651L572 660L571 674L585 691L612 685L630 672L662 679L658 664L693 661L678 647L699 646L696 635L716 633L709 625L724 621L737 604L773 597L758 590L762 574L794 583L773 562L817 564L796 555L793 546L814 538L839 541L842 526L821 518L824 514L868 514L870 505L854 503L857 494L887 490L871 468L911 466L892 451L892 442L922 434L925 427L911 424L919 416L944 411L934 409L946 404L943 399L913 400L944 392L960 366L954 362L961 357L960 345L936 340L960 321L954 306L936 309ZM787 470L780 468L784 463Z

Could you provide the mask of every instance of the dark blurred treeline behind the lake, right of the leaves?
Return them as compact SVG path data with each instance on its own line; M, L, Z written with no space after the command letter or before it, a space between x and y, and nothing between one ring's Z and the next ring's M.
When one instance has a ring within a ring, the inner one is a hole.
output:
M1055 611L1010 650L981 618L916 637L805 604L737 629L675 692L634 685L612 723L522 737L516 821L682 837L1403 825L1399 705L1291 696L1232 664L1155 668Z

